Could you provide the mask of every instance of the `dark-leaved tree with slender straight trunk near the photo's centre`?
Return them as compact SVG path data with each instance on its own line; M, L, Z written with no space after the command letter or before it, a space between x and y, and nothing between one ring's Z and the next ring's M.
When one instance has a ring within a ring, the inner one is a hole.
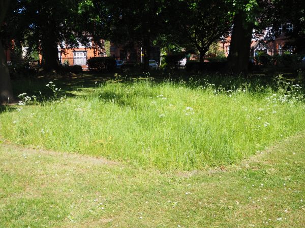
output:
M163 29L164 0L94 1L96 9L106 8L111 42L142 48L144 71L148 70L151 47ZM98 12L100 16L103 11Z

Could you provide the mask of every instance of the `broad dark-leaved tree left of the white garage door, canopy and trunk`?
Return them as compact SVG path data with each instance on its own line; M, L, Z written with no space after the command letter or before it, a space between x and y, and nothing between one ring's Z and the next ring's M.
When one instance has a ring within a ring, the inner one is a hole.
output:
M88 0L19 0L8 14L7 31L16 43L38 49L46 71L58 70L58 45L88 44L93 5Z

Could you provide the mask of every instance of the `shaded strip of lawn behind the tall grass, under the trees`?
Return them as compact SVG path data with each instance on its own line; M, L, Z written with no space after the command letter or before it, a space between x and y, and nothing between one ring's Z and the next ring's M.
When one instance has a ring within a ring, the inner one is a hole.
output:
M52 81L56 88L61 88L58 96L66 97L82 97L86 96L90 92L94 92L96 84L101 86L107 81L119 82L119 83L134 83L139 81L152 81L154 83L173 82L181 83L189 87L197 87L200 84L208 82L214 84L216 87L222 86L226 89L235 90L237 88L245 86L245 83L251 84L250 89L255 89L256 86L272 85L273 77L260 74L248 75L248 77L242 77L241 75L232 76L212 72L204 73L187 73L183 71L173 72L173 73L162 73L162 72L151 72L150 74L145 74L138 72L130 74L130 77L126 73L120 72L118 74L114 73L82 73L76 77L70 78L58 78L50 79L45 77L32 78L32 79L22 79L15 80L12 82L13 92L17 96L21 93L26 93L26 96L37 97L38 101L42 101L44 97L53 97L53 91L46 87L46 85ZM103 99L106 101L119 101L121 100L118 94L103 94ZM122 105L124 101L122 100Z

